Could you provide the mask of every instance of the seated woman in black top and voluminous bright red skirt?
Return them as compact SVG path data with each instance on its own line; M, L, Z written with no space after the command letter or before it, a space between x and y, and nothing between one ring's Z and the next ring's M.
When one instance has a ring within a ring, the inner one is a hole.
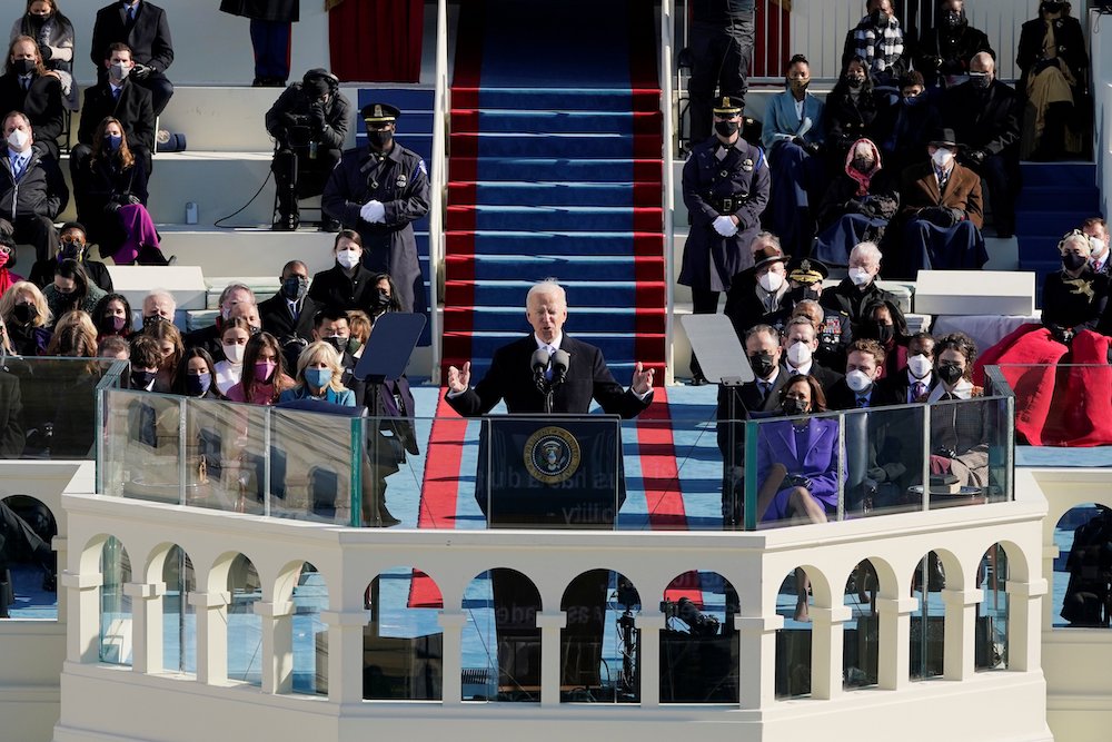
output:
M1112 443L1110 395L1092 393L1112 380L1112 327L1103 326L1112 287L1089 264L1092 246L1084 234L1074 229L1058 249L1062 269L1043 280L1041 323L1023 325L989 348L973 378L982 379L985 366L1001 366L1015 389L1015 433L1031 445Z

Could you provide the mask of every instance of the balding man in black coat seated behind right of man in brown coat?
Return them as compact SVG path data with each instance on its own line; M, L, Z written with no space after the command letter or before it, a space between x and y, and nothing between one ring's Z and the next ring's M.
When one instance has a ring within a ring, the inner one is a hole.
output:
M1015 234L1022 111L1019 95L996 79L996 63L986 51L974 55L969 82L943 96L942 120L957 137L961 164L989 185L997 237Z

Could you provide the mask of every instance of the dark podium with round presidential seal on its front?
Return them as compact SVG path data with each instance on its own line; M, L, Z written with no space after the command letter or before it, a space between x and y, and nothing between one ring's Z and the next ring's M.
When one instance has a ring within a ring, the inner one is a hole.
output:
M620 418L484 417L475 497L492 528L613 528L625 502Z

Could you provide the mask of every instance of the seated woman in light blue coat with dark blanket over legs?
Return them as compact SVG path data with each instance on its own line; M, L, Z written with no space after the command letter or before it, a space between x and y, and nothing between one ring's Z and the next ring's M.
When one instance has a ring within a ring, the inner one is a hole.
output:
M768 151L771 187L763 221L791 255L811 255L815 211L825 168L820 158L824 136L823 101L807 91L811 63L792 57L787 89L768 101L762 142Z

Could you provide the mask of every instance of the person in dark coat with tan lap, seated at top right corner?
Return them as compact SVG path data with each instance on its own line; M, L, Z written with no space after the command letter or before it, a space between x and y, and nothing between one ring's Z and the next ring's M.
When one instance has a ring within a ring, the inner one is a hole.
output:
M1071 120L1088 91L1089 53L1069 2L1039 3L1039 18L1020 29L1015 63L1022 71L1016 90L1026 100L1021 156L1055 160L1083 151L1082 137L1091 121L1075 127Z

